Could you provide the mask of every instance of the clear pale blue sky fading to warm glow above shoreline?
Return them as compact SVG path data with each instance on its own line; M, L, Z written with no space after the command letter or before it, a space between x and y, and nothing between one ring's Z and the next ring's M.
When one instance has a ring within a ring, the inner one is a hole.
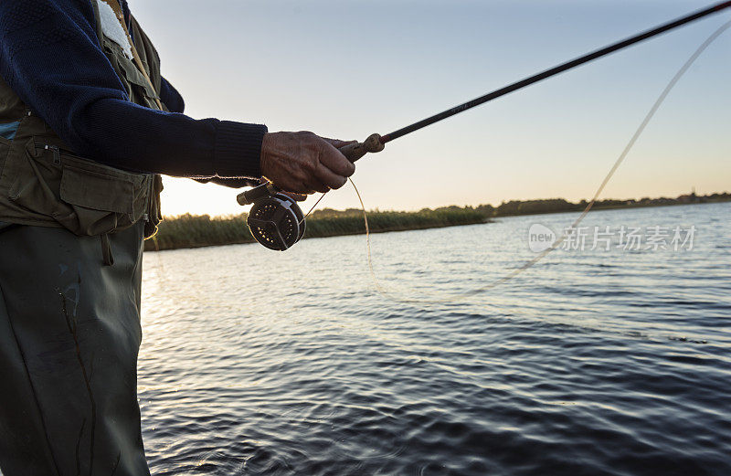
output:
M710 0L129 0L194 118L344 140L385 134ZM593 195L715 15L387 144L357 163L369 209ZM731 31L697 60L603 197L731 191ZM165 178L164 214L246 211ZM303 208L313 205L310 199ZM352 188L320 206L357 206Z

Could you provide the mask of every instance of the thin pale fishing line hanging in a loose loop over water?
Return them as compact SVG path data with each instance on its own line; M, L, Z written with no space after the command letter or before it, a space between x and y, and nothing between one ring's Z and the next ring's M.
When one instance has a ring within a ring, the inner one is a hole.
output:
M668 85L665 87L664 90L662 90L662 93L658 97L657 100L652 104L652 108L648 113L645 115L644 119L640 123L640 126L637 128L637 130L632 134L632 137L630 139L630 142L627 143L627 145L624 147L624 150L620 153L619 158L614 162L612 167L609 169L609 173L604 177L604 180L602 180L601 184L599 185L599 188L597 188L597 191L594 193L594 196L591 198L591 201L589 201L586 208L584 208L584 211L581 212L581 215L577 217L577 219L574 221L574 223L566 228L564 232L562 233L561 237L556 239L556 241L547 249L539 253L534 259L530 259L526 261L522 266L519 266L518 268L515 268L514 270L511 270L507 274L505 274L502 278L499 278L497 280L494 280L493 282L482 286L480 288L476 288L471 291L465 291L458 294L450 295L443 297L441 299L416 299L416 298L408 298L408 297L400 297L397 294L387 290L378 280L376 277L376 272L374 270L373 266L373 253L371 251L371 240L370 240L370 228L368 227L368 216L367 212L365 211L365 205L363 203L363 198L360 195L360 192L358 191L357 186L355 186L355 182L348 178L351 185L353 185L353 188L355 190L355 195L358 197L358 201L360 202L361 209L363 211L363 221L365 224L365 247L367 250L367 260L368 260L368 270L370 272L371 280L373 281L376 291L378 291L379 294L381 294L383 297L396 302L401 303L418 303L418 304L439 304L439 303L448 303L453 301L460 301L466 297L473 296L475 294L479 294L484 291L489 291L495 288L496 286L499 286L500 284L503 284L504 282L507 282L508 280L512 280L525 270L529 270L533 266L535 266L536 263L538 263L540 260L544 259L550 252L557 249L561 244L566 240L566 238L569 236L569 233L567 231L572 229L577 229L578 225L583 221L584 217L588 215L589 210L591 210L591 207L594 206L595 202L599 198L599 195L601 195L601 192L604 191L604 188L609 183L609 180L614 176L614 174L617 172L617 169L620 167L620 164L624 162L624 159L627 157L627 155L630 153L632 148L634 147L635 143L637 143L638 139L642 135L642 132L645 131L645 128L647 125L651 122L653 116L655 115L655 112L657 112L660 109L660 106L662 106L662 103L667 98L668 94L670 94L670 91L673 90L675 85L678 83L678 81L683 78L683 75L685 72L690 69L690 67L694 64L695 60L701 56L701 54L705 51L706 48L708 48L717 37L721 36L722 33L724 33L729 26L731 26L731 21L726 22L724 25L718 27L713 34L711 34L710 37L707 37L705 41L701 44L700 47L698 47L694 53L691 55L690 58L688 58L681 69L678 70L677 73L673 76L673 79L670 80ZM433 116L437 117L437 116ZM425 127L426 125L429 125L428 123L419 125L419 122L414 124L413 126L409 127ZM402 131L407 130L408 128L405 128ZM411 131L403 132L408 133ZM322 199L322 197L321 197ZM318 200L319 202L319 200Z

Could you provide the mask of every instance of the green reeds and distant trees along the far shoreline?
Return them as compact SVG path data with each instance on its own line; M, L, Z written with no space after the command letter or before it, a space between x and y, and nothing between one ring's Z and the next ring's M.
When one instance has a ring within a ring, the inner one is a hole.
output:
M640 200L598 200L593 210L636 208L644 206L688 205L731 201L730 193L696 196L694 193L676 198L641 198ZM371 233L407 231L436 227L455 227L489 223L493 218L522 215L542 215L583 210L586 200L573 203L563 198L545 200L512 200L500 206L442 206L423 208L416 212L368 212ZM252 243L254 238L246 225L246 214L228 217L181 215L165 217L157 234L144 242L145 251L164 249L200 248ZM363 212L359 208L315 210L307 217L304 238L325 238L365 234Z

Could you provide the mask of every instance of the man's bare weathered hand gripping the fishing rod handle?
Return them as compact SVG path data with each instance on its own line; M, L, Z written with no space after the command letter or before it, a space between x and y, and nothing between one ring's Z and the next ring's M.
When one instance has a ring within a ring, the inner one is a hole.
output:
M338 148L356 141L313 132L270 132L261 143L261 173L286 192L313 194L345 185L355 165Z

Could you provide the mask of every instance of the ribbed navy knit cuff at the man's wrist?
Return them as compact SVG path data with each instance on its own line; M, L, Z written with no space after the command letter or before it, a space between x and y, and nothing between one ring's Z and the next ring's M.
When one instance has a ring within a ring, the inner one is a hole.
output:
M213 165L219 177L260 177L261 141L267 126L221 121Z

